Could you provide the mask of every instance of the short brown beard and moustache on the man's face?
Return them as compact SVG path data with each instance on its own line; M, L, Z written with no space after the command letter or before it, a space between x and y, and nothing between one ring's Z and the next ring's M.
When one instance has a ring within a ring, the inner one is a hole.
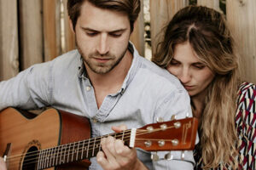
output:
M77 42L76 42L77 43ZM88 54L88 56L85 56L85 54L83 53L82 49L79 47L79 44L77 43L77 48L79 50L79 53L81 54L81 56L84 59L84 63L86 65L89 66L90 70L97 73L97 74L106 74L109 71L112 71L113 68L116 65L119 65L119 62L125 57L125 53L127 51L127 48L125 48L125 50L123 51L123 53L119 56L119 58L117 58L116 56L114 56L114 54L99 54L98 52L95 53L91 53ZM100 58L100 59L110 59L109 61L112 61L110 63L107 62L106 63L96 63L96 62L92 62L92 58ZM117 59L113 62L113 59Z

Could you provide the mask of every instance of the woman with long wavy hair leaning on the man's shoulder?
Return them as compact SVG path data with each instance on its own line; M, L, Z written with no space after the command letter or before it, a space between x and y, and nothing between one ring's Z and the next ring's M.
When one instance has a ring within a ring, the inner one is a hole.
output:
M250 125L242 114L247 112L246 98L254 100L254 95L248 94L255 87L243 83L237 99L241 82L234 49L222 14L212 8L189 6L179 10L166 26L152 59L183 83L193 114L200 120L195 169L255 168L249 160L255 154L248 146L254 137L253 133L248 137L245 127Z

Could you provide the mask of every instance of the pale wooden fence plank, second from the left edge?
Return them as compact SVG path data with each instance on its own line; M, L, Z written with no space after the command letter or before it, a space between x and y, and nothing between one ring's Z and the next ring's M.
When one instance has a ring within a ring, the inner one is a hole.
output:
M20 0L21 70L43 61L43 18L41 0Z

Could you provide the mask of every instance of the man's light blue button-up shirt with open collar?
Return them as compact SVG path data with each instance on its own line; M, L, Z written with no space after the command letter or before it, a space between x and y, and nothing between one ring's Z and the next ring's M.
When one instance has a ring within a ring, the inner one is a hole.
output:
M189 95L176 77L139 56L130 44L133 54L131 68L122 88L108 94L97 108L94 88L86 77L83 59L78 50L26 69L9 81L0 82L0 110L8 106L35 109L53 106L90 119L92 137L113 133L112 126L125 124L128 128L143 127L156 122L157 117L169 121L186 114L192 116ZM167 152L159 152L164 158ZM149 169L193 169L192 151L172 151L170 161L151 161L151 153L137 149L137 156ZM96 158L91 158L90 169L102 169Z

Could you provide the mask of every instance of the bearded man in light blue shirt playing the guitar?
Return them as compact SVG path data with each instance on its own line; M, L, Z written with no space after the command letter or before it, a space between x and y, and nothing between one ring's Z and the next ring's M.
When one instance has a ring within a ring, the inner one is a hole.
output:
M139 0L69 0L71 27L78 50L33 65L0 82L0 110L8 106L56 109L90 119L92 137L156 122L183 118L191 110L180 82L137 54L129 38ZM119 126L119 127L116 127ZM160 152L164 158L166 152ZM151 153L102 139L90 169L192 169L193 154L173 151L171 161L151 161Z

